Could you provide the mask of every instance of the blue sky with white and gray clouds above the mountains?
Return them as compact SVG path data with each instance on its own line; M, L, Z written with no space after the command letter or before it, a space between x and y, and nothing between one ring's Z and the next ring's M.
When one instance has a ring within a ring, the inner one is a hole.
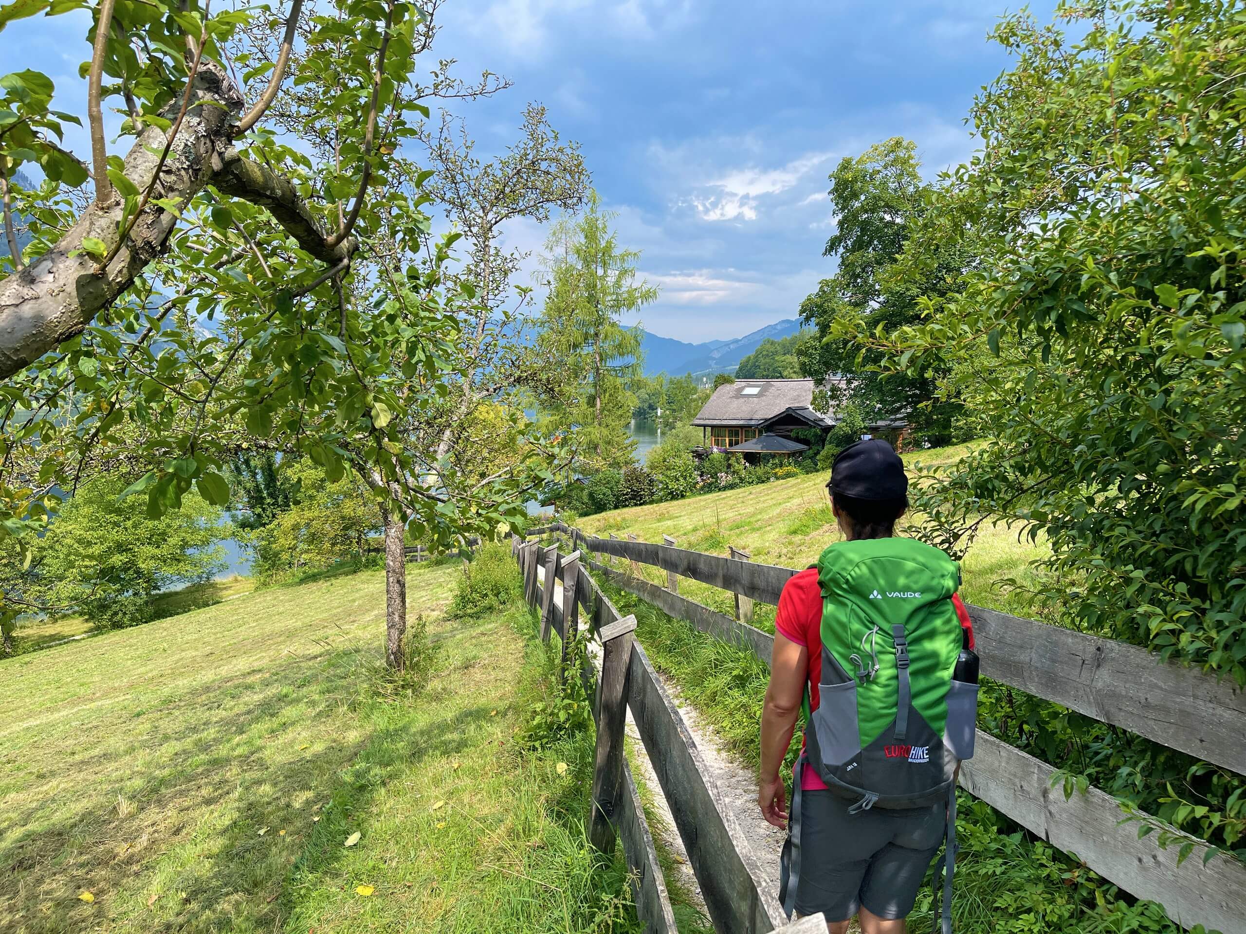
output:
M1053 4L1033 2L1043 20ZM437 57L513 87L461 108L480 151L516 134L527 101L583 146L624 245L662 288L645 328L692 342L781 318L832 271L826 176L888 136L928 174L964 159L963 118L1008 61L986 35L996 0L447 0ZM1014 7L1013 7L1014 9ZM760 11L759 11L760 10ZM2 71L40 68L81 113L85 14L0 34ZM64 96L62 96L64 95ZM120 121L120 118L118 118ZM81 136L81 138L78 138ZM85 134L67 139L88 153ZM536 250L531 223L506 232ZM526 284L526 283L525 283Z

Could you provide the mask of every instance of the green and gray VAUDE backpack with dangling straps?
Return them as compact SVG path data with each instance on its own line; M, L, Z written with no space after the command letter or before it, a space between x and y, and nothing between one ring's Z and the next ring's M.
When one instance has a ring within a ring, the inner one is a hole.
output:
M959 565L912 538L836 542L817 562L817 580L821 700L806 719L801 765L852 800L850 813L948 801L943 929L949 932L954 775L961 760L973 756L978 704L978 685L952 677L963 639L951 600ZM797 768L780 893L789 915L800 861L799 775Z

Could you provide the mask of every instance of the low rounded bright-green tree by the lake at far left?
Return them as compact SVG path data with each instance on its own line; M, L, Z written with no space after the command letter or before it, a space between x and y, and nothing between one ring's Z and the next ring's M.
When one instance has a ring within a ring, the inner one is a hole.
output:
M118 502L125 486L101 477L65 503L25 575L29 603L78 611L97 629L130 626L152 619L161 590L224 569L219 508L191 493L181 509L151 517L138 499Z

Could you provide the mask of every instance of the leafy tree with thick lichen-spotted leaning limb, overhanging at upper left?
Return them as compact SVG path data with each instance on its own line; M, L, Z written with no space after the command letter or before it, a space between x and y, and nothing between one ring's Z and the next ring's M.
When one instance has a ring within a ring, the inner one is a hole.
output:
M399 164L421 101L465 93L446 62L411 77L436 6L331 0L300 17L293 0L283 22L101 0L90 197L74 189L88 167L56 142L72 117L49 110L51 81L0 81L2 171L32 235L0 279L0 534L20 560L57 488L123 467L153 514L192 488L224 504L222 471L248 451L376 478L379 504L439 540L512 514L507 478L430 482L454 465L407 433L440 411L476 309L446 271L456 237L430 237L427 173ZM49 9L70 7L10 4L0 27ZM125 159L106 152L110 100L130 115ZM31 159L46 181L21 189Z

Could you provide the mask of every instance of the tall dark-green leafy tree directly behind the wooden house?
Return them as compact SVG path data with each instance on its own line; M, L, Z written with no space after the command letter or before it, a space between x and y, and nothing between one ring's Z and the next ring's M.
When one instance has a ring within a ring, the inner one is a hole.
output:
M839 320L858 321L862 330L921 321L922 298L956 288L967 263L963 237L956 248L928 244L932 262L921 275L912 268L903 275L897 273L897 259L927 212L931 186L922 181L920 168L916 143L892 137L861 156L845 158L831 172L836 228L822 255L837 259L839 269L801 303L801 319L817 329L819 340L800 342L796 357L800 369L820 385L829 377L851 377L842 389L831 382L826 394L815 395L822 411L851 401L870 423L903 420L923 440L946 443L958 407L937 397L937 370L883 377L877 351L834 336Z

